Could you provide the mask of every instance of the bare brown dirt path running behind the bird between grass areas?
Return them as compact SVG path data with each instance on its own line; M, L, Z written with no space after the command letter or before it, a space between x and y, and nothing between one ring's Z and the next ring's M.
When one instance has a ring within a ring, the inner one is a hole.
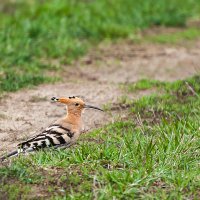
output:
M142 78L174 81L200 71L200 41L189 46L134 44L121 41L103 44L73 63L62 72L63 82L46 84L33 89L9 93L0 99L0 154L13 149L17 143L37 134L65 114L63 105L52 104L52 96L84 96L96 106L116 103L125 94L120 83ZM138 98L152 91L132 94ZM100 127L124 113L84 113L85 130Z

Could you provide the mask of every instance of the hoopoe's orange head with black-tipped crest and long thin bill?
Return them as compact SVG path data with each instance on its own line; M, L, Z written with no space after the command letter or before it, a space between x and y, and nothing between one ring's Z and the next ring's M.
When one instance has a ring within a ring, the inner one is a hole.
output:
M75 96L63 98L52 97L51 100L54 102L60 102L65 104L67 106L68 112L81 113L82 110L85 108L103 111L98 107L85 104L85 102L81 98Z

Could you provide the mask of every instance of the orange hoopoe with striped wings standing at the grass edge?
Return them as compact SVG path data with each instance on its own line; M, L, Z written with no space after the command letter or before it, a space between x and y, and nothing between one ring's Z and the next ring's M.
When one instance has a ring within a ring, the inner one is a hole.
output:
M51 124L40 134L18 144L18 149L16 151L3 156L1 160L12 156L17 156L20 153L28 153L52 146L55 148L69 147L78 139L81 134L82 111L85 108L103 111L98 107L86 105L81 98L75 96L68 98L52 97L51 100L65 104L67 107L67 115Z

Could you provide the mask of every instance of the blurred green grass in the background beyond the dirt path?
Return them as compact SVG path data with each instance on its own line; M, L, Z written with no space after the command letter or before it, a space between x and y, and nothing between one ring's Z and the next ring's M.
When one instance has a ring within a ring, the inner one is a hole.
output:
M69 63L104 39L152 25L184 26L199 13L199 0L2 1L0 92L51 81L52 60Z

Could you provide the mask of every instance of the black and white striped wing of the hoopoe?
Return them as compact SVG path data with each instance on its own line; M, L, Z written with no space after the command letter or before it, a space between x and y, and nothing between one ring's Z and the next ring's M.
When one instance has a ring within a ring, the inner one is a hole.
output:
M74 133L61 125L51 125L41 134L18 144L19 152L38 150L45 147L70 144Z

